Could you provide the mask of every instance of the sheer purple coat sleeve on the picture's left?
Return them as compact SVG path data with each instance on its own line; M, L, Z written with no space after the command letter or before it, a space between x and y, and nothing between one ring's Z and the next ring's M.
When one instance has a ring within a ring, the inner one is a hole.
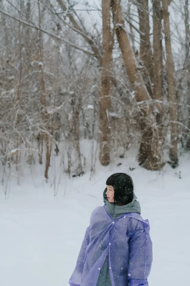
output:
M71 278L69 279L70 286L80 286L81 284L81 275L83 273L83 268L84 268L85 252L89 244L89 241L90 241L90 227L88 226L77 258L77 264L75 270L73 271Z

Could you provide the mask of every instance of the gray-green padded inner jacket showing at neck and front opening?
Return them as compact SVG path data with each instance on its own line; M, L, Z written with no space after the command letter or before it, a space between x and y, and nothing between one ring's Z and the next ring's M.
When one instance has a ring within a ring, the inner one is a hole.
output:
M137 197L134 195L131 203L124 206L116 206L114 203L110 203L107 199L104 199L106 204L107 212L112 216L113 220L121 217L123 214L130 212L141 213L140 203L137 201ZM111 286L110 272L109 272L109 259L108 255L105 259L104 265L102 266L96 286Z

